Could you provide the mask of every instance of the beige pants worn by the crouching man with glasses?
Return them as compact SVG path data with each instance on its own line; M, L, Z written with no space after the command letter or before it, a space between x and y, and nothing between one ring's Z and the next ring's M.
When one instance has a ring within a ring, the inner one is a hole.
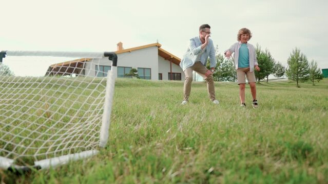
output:
M214 89L214 80L213 75L209 75L205 77L205 73L207 72L206 66L204 66L200 61L195 62L194 65L187 67L184 71L185 80L183 85L183 100L188 101L191 91L191 82L192 82L192 71L197 72L200 76L202 76L207 83L207 92L208 97L211 101L215 100L215 89Z

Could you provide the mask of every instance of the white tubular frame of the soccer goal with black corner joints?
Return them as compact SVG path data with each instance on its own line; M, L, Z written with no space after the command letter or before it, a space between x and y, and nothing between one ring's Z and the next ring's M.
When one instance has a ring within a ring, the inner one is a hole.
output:
M99 55L95 52L45 52L45 51L9 51L11 56L52 56L52 57L92 57ZM3 58L8 55L8 51L0 52L0 64L3 62ZM118 56L115 52L102 52L102 57L108 57L112 61L111 69L107 74L107 82L105 89L105 102L102 114L102 123L100 128L99 147L104 148L108 142L109 126L112 101L114 96L115 78L117 77L117 62ZM14 173L26 173L33 169L48 169L50 167L56 167L59 165L67 164L73 160L84 159L97 154L99 151L96 149L82 151L74 154L67 154L58 157L37 160L33 166L18 166L15 165L15 160L0 156L0 168L7 169Z

